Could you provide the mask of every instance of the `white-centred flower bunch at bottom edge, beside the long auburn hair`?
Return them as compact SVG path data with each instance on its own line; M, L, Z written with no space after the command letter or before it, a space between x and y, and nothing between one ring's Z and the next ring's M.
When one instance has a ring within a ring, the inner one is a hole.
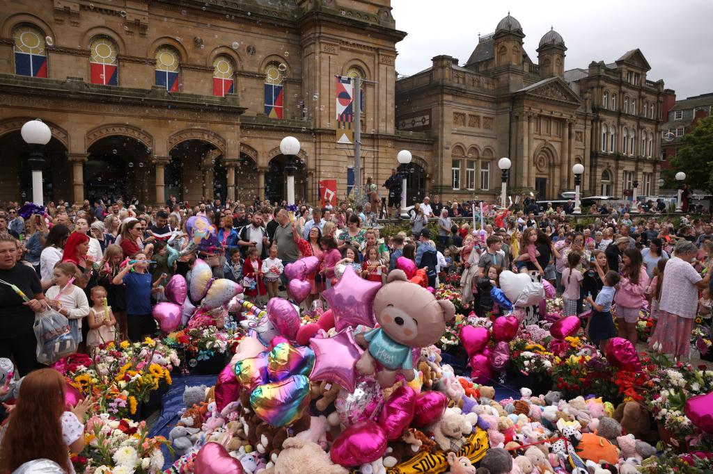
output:
M145 421L115 419L108 414L88 419L84 442L83 451L72 459L78 473L158 473L164 461L161 446L165 444L173 454L163 436L148 437Z

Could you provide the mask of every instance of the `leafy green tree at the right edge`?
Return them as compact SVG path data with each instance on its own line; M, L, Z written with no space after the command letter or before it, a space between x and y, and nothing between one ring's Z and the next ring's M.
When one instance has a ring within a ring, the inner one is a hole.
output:
M671 168L664 173L667 184L676 184L674 176L682 171L690 189L713 194L713 116L699 120L681 142L683 146L671 160Z

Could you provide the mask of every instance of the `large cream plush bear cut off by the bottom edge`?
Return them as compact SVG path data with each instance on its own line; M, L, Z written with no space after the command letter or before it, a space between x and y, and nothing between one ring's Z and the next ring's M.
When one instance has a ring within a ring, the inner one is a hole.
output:
M332 463L329 454L319 445L299 438L288 438L275 465L258 474L349 474L349 470Z

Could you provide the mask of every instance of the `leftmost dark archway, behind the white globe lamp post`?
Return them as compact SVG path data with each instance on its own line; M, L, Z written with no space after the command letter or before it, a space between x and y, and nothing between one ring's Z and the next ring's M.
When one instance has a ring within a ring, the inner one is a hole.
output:
M27 159L31 152L19 130L0 137L2 172L0 173L0 201L32 201L32 170ZM42 191L45 203L64 199L73 201L72 167L67 161L67 149L55 137L42 150ZM19 186L18 186L19 184Z

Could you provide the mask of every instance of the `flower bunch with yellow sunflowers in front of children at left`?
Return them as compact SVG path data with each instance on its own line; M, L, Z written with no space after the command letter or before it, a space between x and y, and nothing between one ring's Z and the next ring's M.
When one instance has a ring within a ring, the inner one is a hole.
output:
M98 412L128 417L160 384L172 383L170 371L179 362L175 350L147 337L133 344L109 342L92 357L72 354L53 367L83 396L95 399Z

